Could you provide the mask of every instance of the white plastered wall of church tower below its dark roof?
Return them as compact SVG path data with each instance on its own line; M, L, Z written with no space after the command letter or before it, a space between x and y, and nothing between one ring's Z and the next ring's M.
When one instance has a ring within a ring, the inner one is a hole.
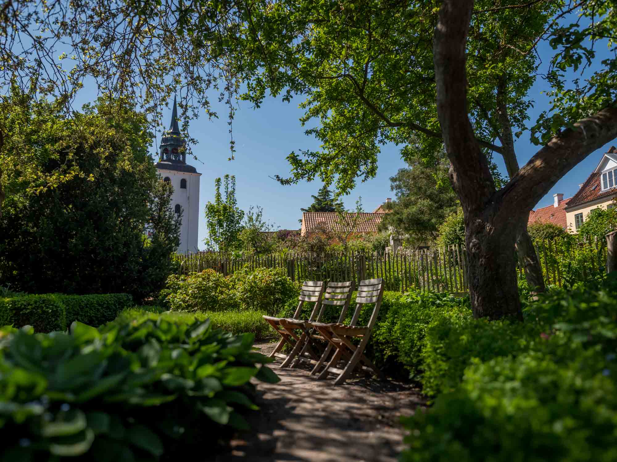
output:
M180 227L180 246L177 252L186 254L195 252L199 247L199 180L201 173L177 172L157 169L161 179L169 177L173 185L172 210L176 204L183 208L182 225ZM186 189L180 188L180 181L186 179Z

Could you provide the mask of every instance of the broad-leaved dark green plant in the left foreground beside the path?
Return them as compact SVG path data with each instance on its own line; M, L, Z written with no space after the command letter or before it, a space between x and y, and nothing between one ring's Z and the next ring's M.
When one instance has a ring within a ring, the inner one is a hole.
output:
M212 452L256 409L257 378L278 377L252 334L150 316L70 335L4 330L0 457L7 461L177 460ZM256 365L262 365L256 367Z

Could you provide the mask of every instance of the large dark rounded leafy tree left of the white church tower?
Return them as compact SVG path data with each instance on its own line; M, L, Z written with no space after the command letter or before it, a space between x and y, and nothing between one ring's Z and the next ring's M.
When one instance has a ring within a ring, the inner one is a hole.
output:
M0 155L10 192L0 219L2 280L31 293L128 292L136 301L158 291L180 217L147 153L144 115L107 99L72 120L45 100L21 109L0 102L14 133Z

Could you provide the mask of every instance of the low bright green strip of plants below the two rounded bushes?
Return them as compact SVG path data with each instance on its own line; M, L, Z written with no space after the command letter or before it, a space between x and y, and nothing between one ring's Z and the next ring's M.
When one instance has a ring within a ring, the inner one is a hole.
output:
M130 321L143 317L150 319L163 317L171 322L191 323L195 318L199 321L210 318L213 327L221 328L233 334L250 332L255 334L255 341L275 339L276 333L262 318L264 314L265 312L260 310L204 311L198 313L169 312L160 306L136 306L120 312L118 319Z

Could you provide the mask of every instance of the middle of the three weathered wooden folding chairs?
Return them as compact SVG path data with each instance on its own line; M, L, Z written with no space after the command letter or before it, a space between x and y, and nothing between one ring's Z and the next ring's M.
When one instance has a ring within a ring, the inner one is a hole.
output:
M337 322L343 322L345 316L347 315L347 309L349 309L349 302L351 301L351 294L354 291L354 282L329 282L328 288L326 288L325 294L323 294L323 299L321 300L321 310L319 311L319 315L316 320L309 319L308 321L299 320L299 319L286 319L281 320L281 327L283 327L286 331L291 332L294 329L302 331L300 334L299 341L296 342L296 346L288 355L287 359L284 360L281 367L296 367L300 360L306 360L304 354L309 350L313 352L323 350L316 343L315 340L319 339L326 342L326 352L321 354L321 358L324 355L327 357L328 353L332 349L332 345L323 338L314 328L314 321L321 321L323 318L323 314L325 312L326 306L335 306L341 307L341 314L339 314L339 320ZM296 359L294 361L294 358ZM321 360L320 358L320 360ZM293 363L292 363L293 361ZM313 360L315 363L315 360ZM320 367L320 363L317 361L317 367Z

